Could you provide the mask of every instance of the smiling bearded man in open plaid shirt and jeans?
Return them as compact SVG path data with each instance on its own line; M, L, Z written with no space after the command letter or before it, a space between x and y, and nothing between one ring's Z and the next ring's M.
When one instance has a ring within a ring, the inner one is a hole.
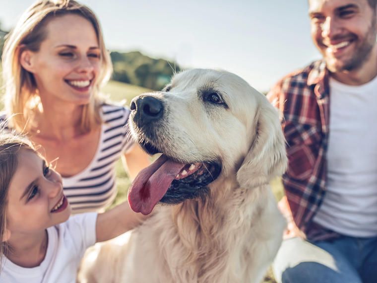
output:
M377 282L377 0L309 0L321 61L280 80L289 168L278 282Z

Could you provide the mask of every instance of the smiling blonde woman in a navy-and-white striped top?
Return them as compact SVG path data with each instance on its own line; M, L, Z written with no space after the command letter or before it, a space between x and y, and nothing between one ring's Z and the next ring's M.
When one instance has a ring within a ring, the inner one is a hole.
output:
M57 160L72 211L101 211L116 195L115 162L133 178L149 164L128 135L129 110L105 104L112 71L95 14L73 0L37 0L10 32L2 55L8 127Z

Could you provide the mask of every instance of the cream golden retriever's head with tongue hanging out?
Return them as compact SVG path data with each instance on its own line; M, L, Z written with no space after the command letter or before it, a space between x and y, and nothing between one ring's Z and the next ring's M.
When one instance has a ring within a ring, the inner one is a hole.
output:
M237 174L239 186L252 188L285 171L277 111L235 74L184 71L162 91L135 97L130 109L136 141L163 153L131 186L128 201L137 212L196 198L220 174Z

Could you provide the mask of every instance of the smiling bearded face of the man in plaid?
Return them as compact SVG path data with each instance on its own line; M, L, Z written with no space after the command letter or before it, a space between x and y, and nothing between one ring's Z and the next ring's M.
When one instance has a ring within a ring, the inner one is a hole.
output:
M359 70L376 44L376 10L367 0L309 0L312 39L332 72Z

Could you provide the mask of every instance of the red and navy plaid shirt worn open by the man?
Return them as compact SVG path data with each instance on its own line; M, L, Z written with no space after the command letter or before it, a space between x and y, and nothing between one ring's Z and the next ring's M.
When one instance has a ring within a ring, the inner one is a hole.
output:
M285 194L296 225L309 240L339 235L313 222L326 186L326 150L329 127L329 72L323 61L282 78L267 94L283 114L288 170Z

